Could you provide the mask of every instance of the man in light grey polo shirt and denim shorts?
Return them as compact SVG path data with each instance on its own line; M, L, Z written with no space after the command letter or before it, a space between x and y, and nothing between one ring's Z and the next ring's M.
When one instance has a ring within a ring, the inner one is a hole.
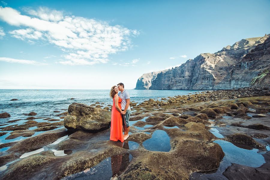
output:
M126 140L129 135L128 135L128 132L129 132L129 116L131 114L131 108L129 106L129 103L130 103L130 95L128 93L127 90L124 89L124 84L122 82L120 82L119 84L117 84L118 86L118 89L119 89L119 97L122 99L122 102L121 102L121 107L122 107L122 120L123 120L123 129L124 129L124 140Z

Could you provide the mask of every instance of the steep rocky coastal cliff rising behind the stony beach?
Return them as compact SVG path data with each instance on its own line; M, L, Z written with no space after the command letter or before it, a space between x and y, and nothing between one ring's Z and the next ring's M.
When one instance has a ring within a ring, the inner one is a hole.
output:
M200 54L179 67L152 72L154 75L143 74L135 89L214 90L258 84L259 79L268 77L269 35L242 39L214 54Z

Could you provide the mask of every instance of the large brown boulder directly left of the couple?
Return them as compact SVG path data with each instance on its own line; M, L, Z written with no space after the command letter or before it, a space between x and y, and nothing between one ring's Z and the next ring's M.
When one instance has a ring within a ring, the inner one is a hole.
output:
M98 132L108 129L110 123L110 111L80 103L70 104L68 115L64 118L64 126L69 131Z

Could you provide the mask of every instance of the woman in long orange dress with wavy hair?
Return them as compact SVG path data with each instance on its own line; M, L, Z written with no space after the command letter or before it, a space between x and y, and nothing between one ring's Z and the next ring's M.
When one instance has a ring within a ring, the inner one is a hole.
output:
M111 141L120 140L124 142L123 129L122 129L122 115L121 115L121 101L122 99L118 96L119 89L116 85L111 88L110 97L113 98L113 108L111 117Z

